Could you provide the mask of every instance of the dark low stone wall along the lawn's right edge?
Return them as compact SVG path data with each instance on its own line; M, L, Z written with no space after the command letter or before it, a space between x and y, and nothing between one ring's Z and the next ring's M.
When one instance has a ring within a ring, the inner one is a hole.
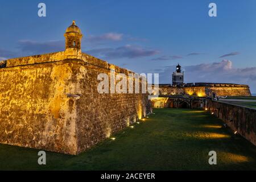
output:
M228 126L256 145L256 109L207 100L210 111Z

